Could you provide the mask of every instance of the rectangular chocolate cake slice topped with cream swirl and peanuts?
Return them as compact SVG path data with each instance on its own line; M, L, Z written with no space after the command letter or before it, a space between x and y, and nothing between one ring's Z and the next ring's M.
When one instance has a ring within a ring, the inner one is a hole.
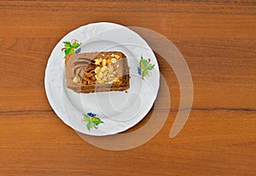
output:
M123 91L130 88L129 66L122 52L70 54L65 58L67 88L76 93Z

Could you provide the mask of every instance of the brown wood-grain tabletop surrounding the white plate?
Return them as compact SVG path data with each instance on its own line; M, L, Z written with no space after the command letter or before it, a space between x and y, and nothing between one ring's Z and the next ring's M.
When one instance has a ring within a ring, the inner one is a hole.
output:
M256 175L255 1L1 1L0 14L0 175ZM172 109L148 143L102 150L52 111L49 54L67 32L97 21L148 28L177 45L194 103L176 138L178 82L159 57Z

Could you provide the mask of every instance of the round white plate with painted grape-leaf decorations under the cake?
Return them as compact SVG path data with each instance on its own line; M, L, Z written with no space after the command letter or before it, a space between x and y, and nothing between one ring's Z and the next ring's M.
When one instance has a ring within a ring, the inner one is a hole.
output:
M94 94L76 94L68 89L61 48L63 42L74 41L81 43L76 52L123 52L130 66L130 88ZM141 56L145 65L154 65L145 77ZM102 136L125 131L147 115L158 93L160 72L152 49L142 37L125 26L101 22L79 27L61 39L49 57L44 84L49 104L63 122L80 133Z

